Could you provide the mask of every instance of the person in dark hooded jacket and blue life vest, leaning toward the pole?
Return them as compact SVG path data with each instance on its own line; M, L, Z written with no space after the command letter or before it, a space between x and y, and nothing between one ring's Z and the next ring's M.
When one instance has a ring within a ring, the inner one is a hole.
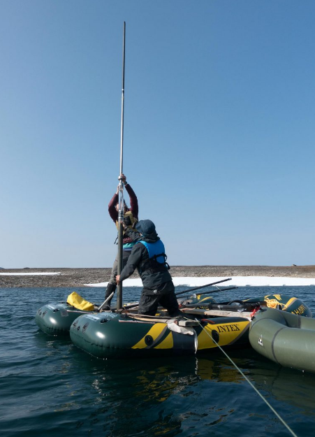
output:
M175 287L168 272L170 266L166 262L164 245L156 234L155 225L151 220L140 220L135 224L138 231L138 241L131 250L126 266L120 275L116 276L119 282L129 278L138 268L142 280L138 314L155 315L159 306L166 308L170 317L182 314L175 296ZM127 234L135 234L127 231Z

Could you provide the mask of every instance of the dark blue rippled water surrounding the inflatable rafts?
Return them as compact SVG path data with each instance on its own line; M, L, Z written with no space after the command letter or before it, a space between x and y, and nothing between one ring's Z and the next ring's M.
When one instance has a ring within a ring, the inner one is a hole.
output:
M103 299L101 288L75 290ZM291 435L220 351L103 361L39 331L36 310L73 291L0 289L1 437ZM315 287L242 287L216 299L276 292L300 297L315 314ZM124 301L139 295L139 288L124 289ZM295 434L314 436L315 374L281 368L250 348L228 353Z

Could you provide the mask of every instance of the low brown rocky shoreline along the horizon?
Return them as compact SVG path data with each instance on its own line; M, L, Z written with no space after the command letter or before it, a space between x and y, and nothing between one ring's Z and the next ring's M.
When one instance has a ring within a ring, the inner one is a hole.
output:
M110 279L111 268L3 268L0 273L53 273L61 275L0 275L5 287L85 287ZM173 277L269 276L315 278L314 266L172 266ZM131 278L138 278L134 273Z

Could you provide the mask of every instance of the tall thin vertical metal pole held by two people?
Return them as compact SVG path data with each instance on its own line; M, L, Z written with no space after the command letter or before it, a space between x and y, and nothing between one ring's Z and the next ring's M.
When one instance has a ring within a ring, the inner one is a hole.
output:
M125 37L126 37L126 22L124 22L124 37L122 43L122 125L120 131L120 173L122 174L122 163L123 163L123 150L124 150L124 88L125 88ZM124 221L124 184L122 180L119 180L119 191L118 191L118 266L117 273L120 275L122 272L122 240L124 230L122 223ZM117 310L122 308L122 282L119 283L117 287Z

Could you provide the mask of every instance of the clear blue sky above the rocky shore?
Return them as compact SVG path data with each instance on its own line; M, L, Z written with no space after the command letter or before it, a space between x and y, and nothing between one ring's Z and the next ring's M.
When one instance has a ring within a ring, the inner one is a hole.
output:
M314 17L1 0L0 266L112 265L124 21L124 173L170 264L314 264Z

